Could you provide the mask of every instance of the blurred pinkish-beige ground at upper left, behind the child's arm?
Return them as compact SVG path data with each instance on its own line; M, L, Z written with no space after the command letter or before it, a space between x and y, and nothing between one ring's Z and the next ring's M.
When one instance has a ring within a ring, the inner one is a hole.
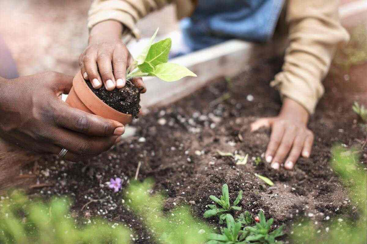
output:
M1 0L0 35L18 64L20 75L58 71L74 75L87 46L91 0ZM152 21L153 20L153 21ZM169 6L139 22L142 37L178 28Z

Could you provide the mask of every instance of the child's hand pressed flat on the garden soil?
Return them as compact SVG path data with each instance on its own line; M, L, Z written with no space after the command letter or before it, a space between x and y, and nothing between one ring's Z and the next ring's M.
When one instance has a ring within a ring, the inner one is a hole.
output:
M277 117L262 118L251 124L251 131L261 127L271 127L270 142L265 160L278 170L284 158L284 168L291 170L302 152L308 158L313 144L313 133L307 128L308 112L297 102L285 98Z

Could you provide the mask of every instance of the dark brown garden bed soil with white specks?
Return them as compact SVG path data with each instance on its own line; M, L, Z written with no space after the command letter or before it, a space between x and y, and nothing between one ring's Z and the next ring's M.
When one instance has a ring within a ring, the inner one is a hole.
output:
M156 192L167 195L167 211L176 204L195 201L192 212L202 218L206 205L211 204L209 195L219 196L222 184L227 183L231 199L244 191L242 211L256 214L263 209L266 217L275 218L276 225L291 226L295 218L310 218L321 228L328 225L327 216L356 218L357 210L328 164L335 143L361 146L365 139L350 109L352 101L341 102L337 109L332 100L321 102L309 123L315 133L311 157L299 159L293 171L254 164L254 157L261 157L266 150L270 131L251 133L248 128L259 117L277 115L279 96L269 81L280 65L280 59L264 61L232 81L217 80L169 107L153 110L133 122L137 128L134 137L88 162L45 157L38 163L39 182L54 186L36 189L33 194L45 198L69 195L75 200L73 211L77 214L120 222L135 231L135 243L141 244L154 243L154 233L121 203L122 195L114 194L105 184L110 177L121 177L125 188L139 161L138 179L155 179ZM225 92L231 94L229 99L213 102ZM254 100L248 101L248 95ZM237 166L233 158L219 157L217 150L248 153L249 161ZM361 163L366 167L366 149ZM254 173L269 177L274 187L269 188ZM81 210L91 199L101 200ZM215 218L207 222L217 225Z

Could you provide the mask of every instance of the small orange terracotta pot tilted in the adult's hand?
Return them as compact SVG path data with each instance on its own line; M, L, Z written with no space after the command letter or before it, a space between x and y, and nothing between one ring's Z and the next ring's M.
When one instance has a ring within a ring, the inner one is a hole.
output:
M69 92L68 98L66 98L66 103L73 108L99 115L106 119L119 121L124 125L132 120L131 115L121 113L99 99L88 87L80 71L74 77L73 87Z

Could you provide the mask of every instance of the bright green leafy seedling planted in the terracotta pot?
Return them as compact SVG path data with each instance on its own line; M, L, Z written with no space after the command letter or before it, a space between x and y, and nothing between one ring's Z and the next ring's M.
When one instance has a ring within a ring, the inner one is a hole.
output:
M128 67L126 79L131 80L134 77L156 76L161 80L172 82L185 76L196 75L179 64L168 63L168 54L171 50L172 40L165 40L153 44L158 29L149 41L149 45L143 49L142 53Z

